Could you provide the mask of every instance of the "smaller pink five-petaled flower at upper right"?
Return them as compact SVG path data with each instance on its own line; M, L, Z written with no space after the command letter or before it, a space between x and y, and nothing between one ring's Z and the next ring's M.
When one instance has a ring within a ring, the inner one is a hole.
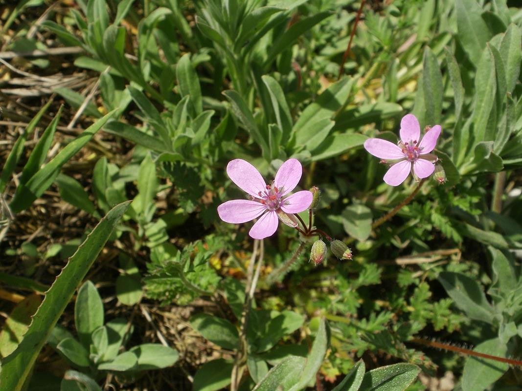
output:
M384 175L384 181L390 186L398 186L413 172L418 178L427 178L435 170L437 157L430 153L435 149L441 126L430 128L422 138L419 121L413 114L407 114L400 121L400 141L397 145L382 139L367 139L364 148L372 155L392 166Z

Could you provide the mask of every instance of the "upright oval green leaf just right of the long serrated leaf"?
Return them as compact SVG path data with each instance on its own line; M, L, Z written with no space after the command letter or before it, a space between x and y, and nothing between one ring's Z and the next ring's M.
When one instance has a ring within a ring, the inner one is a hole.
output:
M98 289L87 281L78 290L74 306L74 321L81 343L88 348L91 343L91 333L103 326L103 303Z

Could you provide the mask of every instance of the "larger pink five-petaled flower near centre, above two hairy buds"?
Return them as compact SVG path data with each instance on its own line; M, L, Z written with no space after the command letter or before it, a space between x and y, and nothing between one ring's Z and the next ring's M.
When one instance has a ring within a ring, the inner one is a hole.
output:
M218 206L219 217L227 223L240 224L261 216L248 233L254 239L273 235L278 220L291 227L294 213L308 209L313 195L308 190L285 197L297 186L303 167L297 159L289 159L277 170L270 185L265 184L258 170L242 159L234 159L227 165L227 174L238 187L250 194L248 200L231 200Z

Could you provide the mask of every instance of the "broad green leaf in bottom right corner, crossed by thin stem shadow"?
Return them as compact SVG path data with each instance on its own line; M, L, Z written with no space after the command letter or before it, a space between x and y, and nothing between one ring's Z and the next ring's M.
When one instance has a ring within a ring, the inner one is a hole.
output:
M505 357L507 345L503 344L499 338L493 338L477 345L473 350L487 355ZM499 379L508 369L509 365L506 363L469 356L464 364L464 371L462 371L462 391L482 391Z

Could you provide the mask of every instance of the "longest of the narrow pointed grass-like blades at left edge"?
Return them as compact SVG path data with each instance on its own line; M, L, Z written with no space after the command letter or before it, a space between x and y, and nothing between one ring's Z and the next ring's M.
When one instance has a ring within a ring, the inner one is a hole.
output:
M98 119L94 124L84 130L76 139L69 142L48 164L35 173L26 185L17 188L15 196L9 207L13 213L27 209L34 200L40 197L51 186L54 179L60 173L62 166L67 163L98 130L111 118L113 112Z

